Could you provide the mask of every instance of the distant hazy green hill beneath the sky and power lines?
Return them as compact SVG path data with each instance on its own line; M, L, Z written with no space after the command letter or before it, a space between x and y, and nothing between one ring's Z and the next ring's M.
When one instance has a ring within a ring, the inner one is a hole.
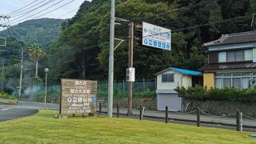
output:
M41 18L22 22L10 27L10 34L30 46L39 43L44 49L58 41L63 19ZM8 33L7 33L8 34Z

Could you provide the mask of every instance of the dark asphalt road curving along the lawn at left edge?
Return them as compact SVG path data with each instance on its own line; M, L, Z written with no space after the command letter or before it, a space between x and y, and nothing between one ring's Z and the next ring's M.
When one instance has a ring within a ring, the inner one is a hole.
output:
M22 118L31 114L36 114L38 109L23 107L23 106L9 106L0 105L0 122L15 118Z

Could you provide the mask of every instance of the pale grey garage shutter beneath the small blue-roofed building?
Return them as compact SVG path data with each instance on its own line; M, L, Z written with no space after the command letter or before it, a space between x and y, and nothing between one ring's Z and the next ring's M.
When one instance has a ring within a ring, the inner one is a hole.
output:
M158 110L166 110L166 106L169 110L181 111L182 98L178 94L158 94Z

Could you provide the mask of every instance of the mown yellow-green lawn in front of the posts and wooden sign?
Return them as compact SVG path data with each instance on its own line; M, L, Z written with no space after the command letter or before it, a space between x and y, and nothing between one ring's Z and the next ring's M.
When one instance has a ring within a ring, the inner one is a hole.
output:
M256 143L251 133L132 118L55 119L58 111L0 122L0 143Z

